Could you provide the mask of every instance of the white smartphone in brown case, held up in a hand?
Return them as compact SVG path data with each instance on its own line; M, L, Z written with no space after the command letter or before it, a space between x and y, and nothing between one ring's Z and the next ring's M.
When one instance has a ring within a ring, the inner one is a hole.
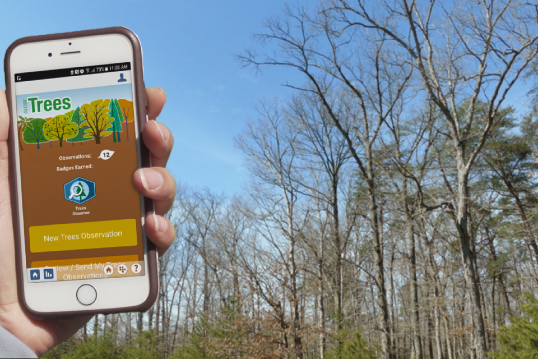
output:
M27 37L5 56L19 299L33 316L144 311L158 292L142 52L124 27Z

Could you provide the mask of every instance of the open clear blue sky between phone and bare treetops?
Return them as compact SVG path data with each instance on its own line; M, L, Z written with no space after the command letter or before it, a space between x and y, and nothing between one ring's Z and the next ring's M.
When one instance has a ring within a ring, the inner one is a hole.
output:
M314 0L303 4L315 5ZM249 178L233 137L256 118L260 98L285 97L282 83L302 80L284 69L262 73L234 59L252 34L286 2L25 1L0 2L0 51L20 37L126 26L144 51L145 83L166 90L159 121L174 133L168 169L178 182L216 193L240 193ZM9 14L12 14L8 16ZM3 68L2 68L2 78ZM2 81L1 87L5 89Z

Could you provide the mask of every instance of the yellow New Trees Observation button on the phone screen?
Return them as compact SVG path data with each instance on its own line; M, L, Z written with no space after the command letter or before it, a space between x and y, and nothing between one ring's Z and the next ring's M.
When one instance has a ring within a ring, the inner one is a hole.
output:
M129 247L136 244L134 219L30 227L32 253Z

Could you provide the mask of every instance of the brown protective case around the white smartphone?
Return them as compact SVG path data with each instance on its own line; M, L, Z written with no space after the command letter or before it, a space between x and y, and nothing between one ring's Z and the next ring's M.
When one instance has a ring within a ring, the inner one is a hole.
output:
M9 138L8 138L8 146L9 146L9 153L15 153L17 151L16 147L16 141L13 139L13 136L11 135L13 131L13 125L17 123L16 118L13 114L13 109L11 108L11 96L13 94L13 90L11 88L11 76L13 74L11 73L10 69L10 57L13 50L22 44L28 44L28 43L37 43L40 41L49 41L49 40L62 40L62 39L73 39L73 38L80 38L80 37L87 37L87 36L96 36L96 35L104 35L104 34L121 34L125 38L127 38L132 45L133 48L133 64L131 66L132 72L134 73L134 93L137 100L137 106L136 106L136 112L138 116L138 125L140 129L140 134L144 132L144 125L146 123L146 115L147 115L147 97L146 97L146 91L144 86L144 72L142 67L142 49L140 46L140 41L138 40L138 37L136 34L134 34L131 30L127 29L126 27L108 27L106 29L95 29L95 30L85 30L85 31L75 31L75 32L65 32L65 33L58 33L58 34L50 34L50 35L42 35L42 36L30 36L25 37L22 39L16 40L13 44L11 44L10 47L8 47L8 50L5 53L4 58L4 71L5 71L5 83L6 83L6 95L8 98L8 108L10 112L10 125L9 125ZM141 137L138 137L139 142L139 148L140 148L140 156L141 156L141 164L142 167L150 167L150 152L147 150L146 146L144 145L144 142L141 140ZM48 312L48 313L42 313L42 312L36 312L30 309L26 304L26 299L24 297L24 268L23 268L23 258L24 255L21 250L21 237L20 237L20 231L19 231L19 210L18 210L18 189L17 189L17 174L16 174L16 164L15 164L15 157L10 156L9 157L9 181L10 181L10 193L11 193L11 215L13 218L13 235L15 236L15 254L16 254L16 265L17 265L17 285L18 285L18 294L19 294L19 301L23 305L23 308L27 313L29 313L34 318L46 318L50 316L76 316L76 315L90 315L90 314L110 314L110 313L121 313L121 312L144 312L147 311L147 309L151 308L151 306L154 304L155 300L157 300L157 294L159 291L159 281L157 276L157 249L155 248L155 245L151 242L146 240L146 248L147 248L147 275L149 276L150 280L150 293L147 297L147 299L138 306L132 306L132 307L120 307L120 308L110 308L110 309L96 309L96 310L89 310L89 311L72 311L72 312ZM144 198L144 207L146 210L146 213L153 211L153 201L148 198ZM144 230L144 228L143 228Z

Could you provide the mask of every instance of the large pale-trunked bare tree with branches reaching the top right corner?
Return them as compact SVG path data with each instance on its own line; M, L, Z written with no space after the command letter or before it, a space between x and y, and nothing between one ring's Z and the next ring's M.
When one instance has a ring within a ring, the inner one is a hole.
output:
M362 1L356 5L335 1L333 5L348 26L374 29L408 52L407 61L419 70L428 97L445 118L457 162L451 213L471 299L474 346L477 358L484 359L487 343L469 228L469 175L498 126L497 114L508 92L538 51L534 6L484 0L448 8L438 2L422 5L401 0L387 3L377 12ZM444 39L437 36L440 33ZM478 124L475 115L480 99L486 101L486 118ZM463 111L459 109L462 101L466 101ZM471 137L478 140L470 143Z

